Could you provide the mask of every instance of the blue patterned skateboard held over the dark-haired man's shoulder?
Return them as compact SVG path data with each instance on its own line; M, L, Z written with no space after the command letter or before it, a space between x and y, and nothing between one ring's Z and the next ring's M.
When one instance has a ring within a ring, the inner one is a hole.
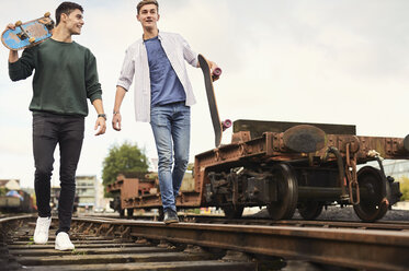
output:
M43 17L22 23L15 23L15 30L7 30L1 34L1 42L10 50L21 50L39 43L52 36L54 21L47 12Z

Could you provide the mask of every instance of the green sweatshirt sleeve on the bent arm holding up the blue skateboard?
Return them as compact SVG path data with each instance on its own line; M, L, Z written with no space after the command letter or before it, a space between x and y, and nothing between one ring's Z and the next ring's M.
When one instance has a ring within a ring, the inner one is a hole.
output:
M21 58L15 62L9 62L9 76L11 81L19 81L29 78L35 69L35 47L23 51Z

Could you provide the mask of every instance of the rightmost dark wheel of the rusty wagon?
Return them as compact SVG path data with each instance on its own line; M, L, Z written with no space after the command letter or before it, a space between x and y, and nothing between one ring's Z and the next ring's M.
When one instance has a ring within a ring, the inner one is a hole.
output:
M383 177L380 170L372 166L362 167L357 172L357 184L361 190L365 189L367 192L361 195L360 203L353 207L356 215L364 222L373 222L384 217L388 207L382 202Z

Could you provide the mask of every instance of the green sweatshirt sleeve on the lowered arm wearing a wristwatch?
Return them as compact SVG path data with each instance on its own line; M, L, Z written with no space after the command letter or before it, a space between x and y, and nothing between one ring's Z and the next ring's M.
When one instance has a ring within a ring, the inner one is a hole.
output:
M91 101L91 103L98 98L102 99L102 90L96 70L96 59L89 50L86 66L86 89L87 97Z

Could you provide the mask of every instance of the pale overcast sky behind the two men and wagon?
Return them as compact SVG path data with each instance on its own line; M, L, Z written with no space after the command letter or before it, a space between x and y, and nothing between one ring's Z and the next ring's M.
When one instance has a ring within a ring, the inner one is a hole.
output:
M0 23L25 22L61 1L2 1ZM110 146L137 143L157 157L148 123L137 123L133 87L125 96L123 130L112 129L115 85L125 49L141 36L135 0L80 1L82 34L75 40L98 59L109 129L93 136L90 105L78 175L101 177ZM180 33L193 50L216 61L221 119L356 125L360 136L409 133L409 1L407 0L162 0L159 30ZM33 187L32 78L11 82L8 54L0 49L0 178ZM214 148L200 69L188 67L197 104L192 107L191 162ZM223 143L230 141L231 131ZM57 148L58 150L58 148ZM53 185L58 185L55 154Z

